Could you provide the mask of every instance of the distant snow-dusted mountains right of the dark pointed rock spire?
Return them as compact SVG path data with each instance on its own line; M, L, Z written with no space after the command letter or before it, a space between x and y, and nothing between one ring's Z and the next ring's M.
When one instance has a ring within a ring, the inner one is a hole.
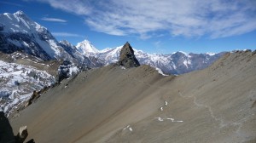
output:
M223 54L186 54L181 51L172 54L146 54L141 50L135 50L135 55L141 64L157 67L167 74L183 74L201 70L210 66Z

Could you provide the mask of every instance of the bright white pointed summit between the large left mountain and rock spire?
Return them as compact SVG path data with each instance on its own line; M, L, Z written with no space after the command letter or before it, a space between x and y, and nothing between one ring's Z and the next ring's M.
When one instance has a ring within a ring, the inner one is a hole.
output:
M90 41L86 39L81 43L78 43L76 48L79 50L81 54L84 54L84 55L96 54L100 52L90 43Z

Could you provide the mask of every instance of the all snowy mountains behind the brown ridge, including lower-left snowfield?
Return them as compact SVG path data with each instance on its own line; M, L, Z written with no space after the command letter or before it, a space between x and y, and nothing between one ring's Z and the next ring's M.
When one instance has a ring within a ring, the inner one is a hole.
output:
M54 81L61 82L63 78L72 76L73 72L117 62L122 47L99 50L88 40L76 46L67 40L58 42L46 27L31 20L22 11L0 14L0 60L3 63L0 69L3 85L0 91L0 110L8 114L14 106L24 101L23 96L27 99L26 95L31 96L33 90L43 89ZM140 65L152 66L163 75L201 70L224 54L148 54L142 50L133 50ZM63 65L63 62L70 65ZM9 71L7 67L10 67ZM33 74L26 72L31 71L27 70L29 67L34 68ZM47 84L43 84L45 76L40 77L42 73L49 74ZM25 89L32 84L37 88Z

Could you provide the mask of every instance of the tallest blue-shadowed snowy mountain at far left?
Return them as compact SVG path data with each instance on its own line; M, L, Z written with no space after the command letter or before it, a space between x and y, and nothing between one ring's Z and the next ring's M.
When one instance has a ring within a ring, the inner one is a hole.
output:
M55 37L22 11L0 14L0 45L3 53L24 51L43 60L70 59Z

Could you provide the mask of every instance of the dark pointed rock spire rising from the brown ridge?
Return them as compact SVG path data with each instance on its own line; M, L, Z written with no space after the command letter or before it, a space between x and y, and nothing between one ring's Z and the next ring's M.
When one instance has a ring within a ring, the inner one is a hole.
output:
M118 65L125 66L125 68L140 66L140 63L136 59L136 57L134 55L134 51L131 48L130 43L128 43L128 42L125 43L125 45L123 46L123 48L120 51Z

